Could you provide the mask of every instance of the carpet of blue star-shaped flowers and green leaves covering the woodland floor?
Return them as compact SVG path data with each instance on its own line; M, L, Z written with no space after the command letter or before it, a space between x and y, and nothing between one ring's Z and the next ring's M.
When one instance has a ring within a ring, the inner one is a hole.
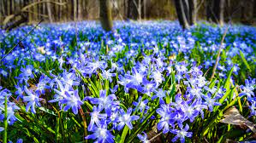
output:
M0 31L0 57L33 26ZM176 21L41 24L0 61L0 142L252 140L256 28ZM7 138L6 138L7 137Z

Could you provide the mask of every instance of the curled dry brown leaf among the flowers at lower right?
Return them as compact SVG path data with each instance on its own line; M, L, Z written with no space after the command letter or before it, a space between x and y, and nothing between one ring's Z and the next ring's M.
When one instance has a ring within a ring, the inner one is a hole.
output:
M246 125L249 129L256 133L255 124L248 121L245 117L241 116L240 112L235 108L235 106L230 107L224 114L223 114L221 123L229 123L233 125L243 126Z

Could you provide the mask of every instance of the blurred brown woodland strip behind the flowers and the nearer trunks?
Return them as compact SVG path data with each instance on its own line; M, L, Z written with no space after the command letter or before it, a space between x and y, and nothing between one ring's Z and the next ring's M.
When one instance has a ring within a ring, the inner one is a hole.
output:
M177 2L188 26L196 20L256 23L256 0L110 0L112 19L176 20L182 14ZM0 24L99 20L99 9L99 0L0 0Z

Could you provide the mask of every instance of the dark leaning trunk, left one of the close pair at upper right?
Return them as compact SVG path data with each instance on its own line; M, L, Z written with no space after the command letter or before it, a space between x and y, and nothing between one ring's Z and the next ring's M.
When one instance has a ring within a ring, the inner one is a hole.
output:
M183 29L189 28L188 20L183 8L182 0L175 0L175 6L176 6L176 14L178 17L178 20L180 22L180 25L182 25Z

